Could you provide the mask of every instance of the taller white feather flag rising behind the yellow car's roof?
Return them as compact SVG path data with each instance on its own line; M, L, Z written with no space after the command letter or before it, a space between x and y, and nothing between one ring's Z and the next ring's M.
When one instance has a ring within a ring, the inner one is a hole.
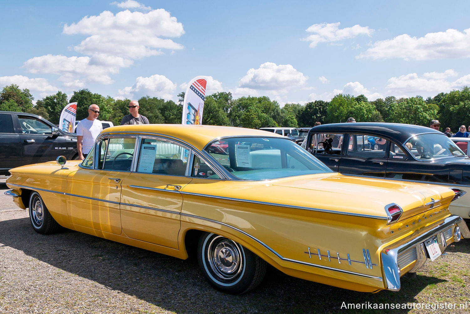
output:
M182 124L202 124L206 76L196 76L184 94Z

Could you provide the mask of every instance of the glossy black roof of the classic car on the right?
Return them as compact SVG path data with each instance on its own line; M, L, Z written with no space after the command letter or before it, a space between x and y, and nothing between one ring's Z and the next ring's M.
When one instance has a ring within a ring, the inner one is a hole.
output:
M423 133L436 133L446 136L444 133L423 127L421 125L404 123L386 123L386 122L355 122L355 123L331 123L321 124L310 129L309 133L365 133L375 136L393 138L400 143L404 143L409 137Z

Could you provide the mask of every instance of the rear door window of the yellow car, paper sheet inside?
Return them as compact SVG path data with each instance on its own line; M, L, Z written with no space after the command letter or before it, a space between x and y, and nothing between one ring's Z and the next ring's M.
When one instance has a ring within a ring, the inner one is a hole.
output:
M155 138L140 143L137 172L186 176L189 150L181 145Z

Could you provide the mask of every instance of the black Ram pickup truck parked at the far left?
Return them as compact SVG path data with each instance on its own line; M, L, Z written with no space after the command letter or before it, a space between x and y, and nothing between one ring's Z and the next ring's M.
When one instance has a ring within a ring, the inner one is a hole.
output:
M8 170L64 155L78 158L77 136L31 113L0 111L0 175Z

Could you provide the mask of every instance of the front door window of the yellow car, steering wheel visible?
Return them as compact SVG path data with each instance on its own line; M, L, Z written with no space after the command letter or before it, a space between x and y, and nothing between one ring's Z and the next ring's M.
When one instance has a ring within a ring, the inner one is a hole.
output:
M103 139L99 143L99 168L103 170L130 171L134 146L135 137L110 137Z

